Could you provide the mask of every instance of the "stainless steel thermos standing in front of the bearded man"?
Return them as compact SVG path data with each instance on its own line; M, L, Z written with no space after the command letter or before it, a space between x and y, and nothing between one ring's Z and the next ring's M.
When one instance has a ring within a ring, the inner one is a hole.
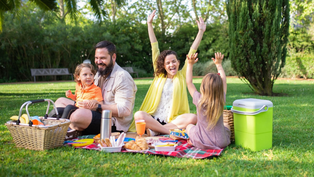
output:
M101 114L100 140L111 136L111 110L103 110Z

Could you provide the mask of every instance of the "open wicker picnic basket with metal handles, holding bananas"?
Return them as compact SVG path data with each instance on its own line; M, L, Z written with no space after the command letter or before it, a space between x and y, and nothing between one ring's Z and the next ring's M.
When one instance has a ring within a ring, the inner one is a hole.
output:
M33 125L30 121L28 106L33 103L48 102L46 115L39 117L44 125ZM50 102L53 104L57 113L57 118L48 117ZM26 112L29 118L29 124L20 123L20 117L23 107L26 106ZM20 109L17 121L8 121L5 123L17 147L23 147L32 150L46 150L63 145L65 135L70 125L70 120L60 119L56 106L52 100L41 99L25 102Z

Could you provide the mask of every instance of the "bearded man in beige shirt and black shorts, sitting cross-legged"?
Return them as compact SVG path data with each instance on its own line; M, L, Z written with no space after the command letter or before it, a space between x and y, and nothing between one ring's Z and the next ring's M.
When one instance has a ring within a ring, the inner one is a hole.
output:
M102 110L111 110L111 132L127 132L133 118L133 108L136 84L131 75L116 63L116 46L109 41L101 41L95 46L95 64L98 71L94 84L101 88L103 104L96 104L88 108L87 102L77 102L80 107L69 116L71 124L67 132L67 138L82 134L99 134ZM58 112L67 105L73 105L74 101L67 98L58 98L55 102ZM54 117L51 111L49 117Z

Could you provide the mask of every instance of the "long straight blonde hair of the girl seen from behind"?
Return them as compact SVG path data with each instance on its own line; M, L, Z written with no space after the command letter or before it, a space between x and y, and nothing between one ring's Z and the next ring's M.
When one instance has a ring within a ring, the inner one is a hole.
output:
M204 109L209 130L211 130L222 115L225 106L224 85L221 77L215 73L208 73L203 77L201 99L198 102L199 109Z

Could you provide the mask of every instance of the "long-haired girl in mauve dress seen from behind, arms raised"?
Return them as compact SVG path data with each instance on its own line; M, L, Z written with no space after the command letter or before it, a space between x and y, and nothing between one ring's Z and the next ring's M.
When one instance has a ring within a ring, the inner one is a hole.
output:
M223 111L226 100L227 83L221 65L224 55L215 53L214 61L218 73L208 73L203 77L200 92L192 83L193 64L198 61L197 53L187 55L187 89L196 106L197 123L187 125L189 144L200 149L221 149L230 144L230 126L224 123Z

